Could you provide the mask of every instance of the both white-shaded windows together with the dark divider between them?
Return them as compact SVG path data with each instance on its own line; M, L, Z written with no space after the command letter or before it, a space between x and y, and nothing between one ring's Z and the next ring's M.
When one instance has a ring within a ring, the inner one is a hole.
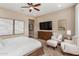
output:
M24 21L0 18L0 35L24 33Z

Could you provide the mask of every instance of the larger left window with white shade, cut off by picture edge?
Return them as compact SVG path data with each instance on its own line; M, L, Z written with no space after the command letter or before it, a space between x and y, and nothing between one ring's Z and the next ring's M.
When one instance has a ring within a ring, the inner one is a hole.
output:
M0 18L0 35L13 34L13 20Z

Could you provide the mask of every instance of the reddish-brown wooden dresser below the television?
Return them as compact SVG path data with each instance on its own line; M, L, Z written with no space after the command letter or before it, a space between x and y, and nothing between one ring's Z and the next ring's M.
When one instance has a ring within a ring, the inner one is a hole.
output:
M52 36L52 32L38 31L38 38L48 40Z

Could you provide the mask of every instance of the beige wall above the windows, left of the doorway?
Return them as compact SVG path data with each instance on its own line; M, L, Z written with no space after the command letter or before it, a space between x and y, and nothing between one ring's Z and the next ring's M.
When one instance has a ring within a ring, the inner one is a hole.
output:
M0 8L0 18L10 18L15 20L24 20L25 21L25 35L28 36L28 19L32 17L27 17L26 15L11 11L8 9Z

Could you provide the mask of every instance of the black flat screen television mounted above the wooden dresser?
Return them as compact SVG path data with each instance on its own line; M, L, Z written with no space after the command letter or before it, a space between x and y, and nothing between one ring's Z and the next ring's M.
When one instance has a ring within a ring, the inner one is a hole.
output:
M52 21L40 22L40 30L52 30Z

